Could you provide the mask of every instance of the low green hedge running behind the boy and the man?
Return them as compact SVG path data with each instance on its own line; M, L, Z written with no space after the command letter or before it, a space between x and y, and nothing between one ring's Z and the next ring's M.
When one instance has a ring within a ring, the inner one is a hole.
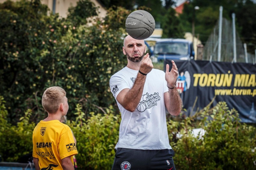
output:
M102 108L101 108L102 109ZM105 114L91 112L85 119L81 105L76 105L76 120L68 120L77 139L79 169L111 169L114 146L118 141L120 115L113 108ZM35 123L29 122L28 110L17 126L6 121L7 111L0 97L0 150L4 161L17 161L32 151L32 131ZM69 115L67 115L69 116ZM175 151L177 169L253 170L255 169L255 127L241 124L238 113L229 110L225 102L205 108L193 117L176 117L167 122L170 144ZM203 138L193 136L192 129L203 128Z

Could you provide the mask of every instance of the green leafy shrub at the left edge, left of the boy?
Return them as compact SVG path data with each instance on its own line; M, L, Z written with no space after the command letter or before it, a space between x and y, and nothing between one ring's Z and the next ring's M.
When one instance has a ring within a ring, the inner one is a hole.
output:
M2 96L0 96L0 145L4 146L0 150L0 155L3 161L15 162L23 155L32 152L32 133L35 123L29 122L31 110L25 112L17 126L8 123L4 102Z

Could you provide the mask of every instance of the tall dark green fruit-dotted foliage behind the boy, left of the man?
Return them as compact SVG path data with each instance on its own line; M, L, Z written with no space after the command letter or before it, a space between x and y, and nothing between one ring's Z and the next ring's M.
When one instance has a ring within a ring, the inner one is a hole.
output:
M95 14L92 6L87 16ZM0 4L0 13L4 21L0 22L0 93L12 122L27 108L35 113L35 122L44 117L41 96L49 86L67 91L71 113L78 101L88 116L115 104L108 84L110 76L126 63L123 30L110 30L97 18L92 26L79 22L87 16L71 22L78 11L67 19L47 15L40 0L6 1Z

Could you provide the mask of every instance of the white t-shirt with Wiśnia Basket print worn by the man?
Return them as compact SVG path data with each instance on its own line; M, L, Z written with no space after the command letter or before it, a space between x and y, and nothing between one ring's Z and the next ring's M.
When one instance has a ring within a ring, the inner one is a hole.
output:
M124 67L111 76L110 89L115 99L120 91L133 87L137 74L137 70ZM126 110L116 100L122 120L115 148L171 149L163 97L165 92L168 92L165 73L152 69L146 77L142 98L134 112Z

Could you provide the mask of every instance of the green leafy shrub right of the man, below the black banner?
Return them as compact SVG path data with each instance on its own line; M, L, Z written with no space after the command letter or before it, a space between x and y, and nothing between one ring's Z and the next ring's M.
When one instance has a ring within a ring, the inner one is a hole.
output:
M199 121L198 121L199 119ZM171 146L175 151L177 169L255 169L255 128L239 122L236 110L225 102L206 107L181 122L169 120ZM195 127L195 122L197 127ZM203 138L192 129L206 131ZM181 136L179 138L178 136Z

